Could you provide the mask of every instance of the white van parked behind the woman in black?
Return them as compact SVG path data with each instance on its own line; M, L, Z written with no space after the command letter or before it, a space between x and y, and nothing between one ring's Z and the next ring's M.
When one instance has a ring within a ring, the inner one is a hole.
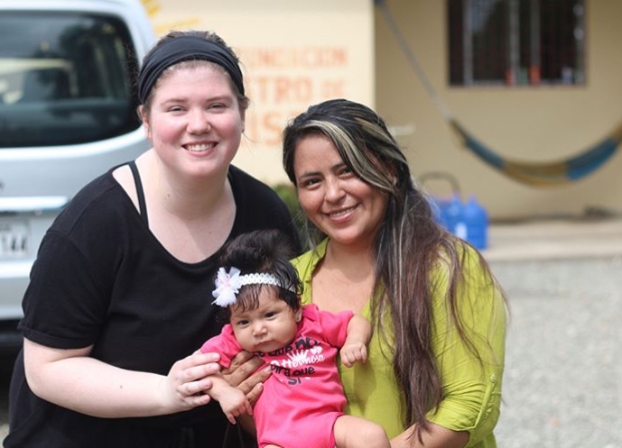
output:
M147 148L133 79L155 34L139 0L0 0L0 351L60 209Z

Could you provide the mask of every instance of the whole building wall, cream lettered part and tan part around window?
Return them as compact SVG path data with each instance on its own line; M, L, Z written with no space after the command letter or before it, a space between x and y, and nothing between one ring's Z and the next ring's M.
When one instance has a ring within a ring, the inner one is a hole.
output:
M579 154L622 122L622 1L586 0L584 87L448 86L445 0L384 0L432 87L470 133L504 159L548 162ZM294 114L344 96L375 106L415 176L443 171L492 218L622 213L622 156L580 181L531 187L465 150L409 65L373 0L143 0L156 32L209 29L237 50L251 98L235 163L285 180L280 132ZM449 184L427 182L434 195Z

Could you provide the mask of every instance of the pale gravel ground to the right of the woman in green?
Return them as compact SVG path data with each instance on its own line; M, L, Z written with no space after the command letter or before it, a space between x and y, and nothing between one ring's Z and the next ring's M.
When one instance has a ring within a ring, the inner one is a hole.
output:
M511 308L500 448L622 448L622 221L492 225Z

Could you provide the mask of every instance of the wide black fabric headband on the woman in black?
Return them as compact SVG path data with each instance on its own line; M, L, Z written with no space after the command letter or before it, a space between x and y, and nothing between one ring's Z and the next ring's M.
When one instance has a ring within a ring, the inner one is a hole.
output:
M144 105L147 101L162 71L178 62L191 59L209 60L226 69L240 94L244 95L242 70L237 65L236 58L226 48L199 36L180 36L163 41L144 57L143 67L138 75L140 104Z

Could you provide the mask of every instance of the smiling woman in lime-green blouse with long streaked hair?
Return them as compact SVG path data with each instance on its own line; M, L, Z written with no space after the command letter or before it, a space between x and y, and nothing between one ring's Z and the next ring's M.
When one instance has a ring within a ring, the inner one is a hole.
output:
M340 370L347 412L395 447L495 447L506 299L476 249L436 224L404 153L365 105L312 105L283 133L283 165L313 249L304 302L369 318L366 364Z

